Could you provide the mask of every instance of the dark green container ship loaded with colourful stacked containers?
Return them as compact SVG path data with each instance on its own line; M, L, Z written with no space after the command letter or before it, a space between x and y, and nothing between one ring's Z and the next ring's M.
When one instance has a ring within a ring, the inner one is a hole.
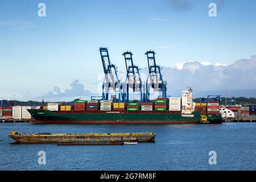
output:
M209 106L193 103L192 89L189 88L182 98L156 98L154 102L127 104L113 103L112 100L75 100L74 106L48 103L43 109L28 109L28 112L35 123L200 123L203 114L209 123L221 123L218 101L208 102Z

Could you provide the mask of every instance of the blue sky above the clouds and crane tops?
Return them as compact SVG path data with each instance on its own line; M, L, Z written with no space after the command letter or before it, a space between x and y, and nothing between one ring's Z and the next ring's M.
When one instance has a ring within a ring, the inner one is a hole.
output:
M46 3L39 17L38 3ZM217 3L217 17L208 15ZM76 79L96 92L99 47L125 71L124 51L146 67L144 52L175 67L185 61L232 64L256 52L256 1L12 1L0 2L0 98L32 100ZM166 78L168 80L168 78Z

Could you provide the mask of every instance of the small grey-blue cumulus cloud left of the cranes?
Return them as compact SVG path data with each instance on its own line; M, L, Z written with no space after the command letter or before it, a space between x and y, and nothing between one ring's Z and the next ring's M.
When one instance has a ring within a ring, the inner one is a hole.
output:
M88 99L90 96L97 95L90 92L90 90L85 89L85 86L79 82L79 80L73 81L71 84L71 89L61 90L59 86L55 86L53 91L49 91L46 94L43 94L45 100L56 100L56 101L68 101L77 98L77 95L82 98Z

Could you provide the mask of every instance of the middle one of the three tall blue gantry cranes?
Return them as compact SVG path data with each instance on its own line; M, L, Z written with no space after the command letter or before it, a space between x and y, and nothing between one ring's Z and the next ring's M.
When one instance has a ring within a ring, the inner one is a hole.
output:
M141 102L144 100L145 94L142 93L142 81L139 75L139 67L133 64L133 53L127 51L122 54L125 57L126 65L126 92L123 91L123 98L129 101L129 88L133 89L133 93L139 92ZM124 88L123 88L124 89Z

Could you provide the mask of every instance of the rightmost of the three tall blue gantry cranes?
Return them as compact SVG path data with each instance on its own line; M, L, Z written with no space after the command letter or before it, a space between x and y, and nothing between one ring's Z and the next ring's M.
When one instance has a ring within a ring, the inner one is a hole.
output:
M162 97L166 97L167 83L163 81L161 69L159 65L155 63L155 52L147 51L145 53L147 55L147 63L148 63L148 76L146 81L146 102L150 98L149 89L153 88L154 92L162 92ZM150 85L148 85L148 80L150 81Z

